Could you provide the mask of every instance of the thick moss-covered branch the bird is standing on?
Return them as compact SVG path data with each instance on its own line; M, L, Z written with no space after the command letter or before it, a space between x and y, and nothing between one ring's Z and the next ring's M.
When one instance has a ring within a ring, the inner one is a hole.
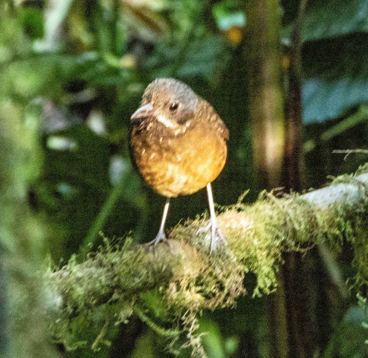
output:
M49 312L54 335L65 342L73 320L109 304L116 305L118 312L106 317L109 322L127 322L138 312L174 341L177 332L187 331L194 355L203 355L195 336L196 315L202 308L234 305L246 292L246 273L257 278L253 295L272 292L282 252L307 250L326 241L339 246L346 238L352 243L357 283L366 283L367 171L366 165L355 175L340 176L329 186L304 195L277 198L263 192L252 205L238 202L224 209L217 220L228 245L218 241L211 255L210 235L197 234L206 218L177 225L156 250L131 239L123 247L105 239L105 246L85 262L71 259L45 274L53 297Z

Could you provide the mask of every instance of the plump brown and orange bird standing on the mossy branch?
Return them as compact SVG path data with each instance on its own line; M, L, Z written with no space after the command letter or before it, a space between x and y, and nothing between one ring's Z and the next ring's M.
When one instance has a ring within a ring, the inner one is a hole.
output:
M212 106L186 84L157 78L146 88L131 116L130 155L146 182L166 196L160 230L148 244L166 240L164 226L171 197L207 187L211 248L216 234L225 243L215 216L211 182L226 161L229 131Z

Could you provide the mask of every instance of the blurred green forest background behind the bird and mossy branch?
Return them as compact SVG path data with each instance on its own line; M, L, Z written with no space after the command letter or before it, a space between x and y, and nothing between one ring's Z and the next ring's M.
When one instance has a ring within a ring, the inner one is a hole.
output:
M229 128L227 162L213 182L219 206L248 189L251 203L263 189L318 188L367 161L332 153L367 148L367 0L0 7L4 357L172 357L137 317L109 329L99 351L91 344L104 323L95 319L78 328L86 344L70 350L43 334L47 324L33 310L46 260L62 265L96 250L99 232L115 242L155 237L165 199L134 173L127 146L130 116L155 78L190 85ZM207 206L205 190L173 199L167 228ZM355 296L366 288L346 284L352 259L347 243L338 255L327 246L285 254L275 293L202 313L207 356L368 357L365 302ZM252 287L254 277L246 280ZM20 307L28 313L17 315Z

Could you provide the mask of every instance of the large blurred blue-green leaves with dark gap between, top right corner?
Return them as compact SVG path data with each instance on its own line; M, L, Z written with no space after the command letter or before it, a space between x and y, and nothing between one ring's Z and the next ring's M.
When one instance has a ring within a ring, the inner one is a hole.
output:
M367 29L367 1L311 1L302 29L304 123L367 102Z

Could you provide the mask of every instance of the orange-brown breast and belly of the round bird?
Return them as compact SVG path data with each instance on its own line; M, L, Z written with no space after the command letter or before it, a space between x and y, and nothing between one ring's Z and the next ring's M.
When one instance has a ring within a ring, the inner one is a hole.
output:
M212 182L226 161L216 130L196 128L178 136L133 129L132 156L148 184L167 197L192 194Z

